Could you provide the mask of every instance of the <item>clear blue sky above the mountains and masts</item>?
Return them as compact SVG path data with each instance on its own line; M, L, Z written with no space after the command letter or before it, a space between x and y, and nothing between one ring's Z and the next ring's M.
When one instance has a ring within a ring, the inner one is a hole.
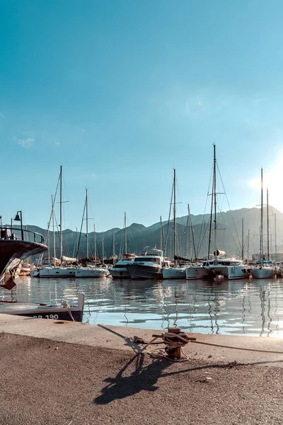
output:
M64 228L202 214L213 143L231 209L283 212L281 0L0 2L1 211ZM56 204L56 215L59 205ZM226 208L229 209L229 208Z

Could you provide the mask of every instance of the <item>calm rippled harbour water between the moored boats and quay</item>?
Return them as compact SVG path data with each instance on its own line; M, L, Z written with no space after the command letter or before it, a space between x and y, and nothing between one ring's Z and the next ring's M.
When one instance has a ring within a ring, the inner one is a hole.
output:
M83 322L149 329L178 325L202 334L283 336L283 280L112 280L25 277L0 299L76 304Z

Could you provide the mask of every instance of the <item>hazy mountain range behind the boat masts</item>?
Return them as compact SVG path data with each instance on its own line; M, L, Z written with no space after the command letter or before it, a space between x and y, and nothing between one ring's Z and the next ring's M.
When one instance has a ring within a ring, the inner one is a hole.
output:
M187 216L176 219L176 254L186 258L203 258L207 256L209 245L209 222L210 215L191 215L192 225L188 226ZM264 250L267 252L267 208L263 208L264 217ZM241 255L242 245L244 257L251 258L251 254L256 254L260 246L260 209L241 208L240 210L229 210L219 212L216 215L217 223L217 249L226 251L229 256ZM212 222L212 228L214 222ZM24 227L33 232L47 235L47 230L35 225ZM156 222L149 227L132 223L126 229L113 228L106 232L96 233L96 253L98 258L110 258L115 252L118 256L125 253L125 235L127 235L127 252L139 254L145 246L151 248L161 245L161 228L163 234L163 249L166 255L173 258L173 220ZM277 253L283 251L283 214L272 206L269 207L269 233L270 233L270 253L275 253L275 242ZM19 234L19 232L16 232ZM113 249L113 234L115 234L115 249ZM212 242L210 253L215 250L214 230L212 229ZM275 240L276 239L276 240ZM59 232L55 232L56 256L59 257ZM50 256L53 256L53 232L49 232L47 245L50 247ZM94 232L88 234L90 256L94 255ZM103 242L103 243L102 243ZM77 246L79 244L79 249ZM63 254L64 256L86 257L86 234L76 233L71 229L63 231Z

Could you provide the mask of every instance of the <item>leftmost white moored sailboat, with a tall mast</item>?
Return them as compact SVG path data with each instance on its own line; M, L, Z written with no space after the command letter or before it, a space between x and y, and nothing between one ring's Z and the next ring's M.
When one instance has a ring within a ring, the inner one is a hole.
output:
M63 227L62 227L62 218L63 218L63 188L62 188L62 165L60 166L60 174L59 174L59 182L60 182L60 266L56 267L45 267L40 269L40 278L74 278L75 277L75 268L74 267L64 267L62 261L76 261L76 259L69 258L63 256ZM54 229L53 229L54 232ZM55 250L55 249L54 249ZM56 256L54 253L54 261L56 261Z

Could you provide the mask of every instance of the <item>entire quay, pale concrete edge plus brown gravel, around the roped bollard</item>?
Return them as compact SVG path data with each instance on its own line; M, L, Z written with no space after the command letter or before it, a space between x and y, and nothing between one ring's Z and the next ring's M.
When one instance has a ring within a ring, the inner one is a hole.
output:
M283 354L189 343L173 363L131 341L156 333L0 314L0 424L282 424ZM283 339L190 336L283 352Z

